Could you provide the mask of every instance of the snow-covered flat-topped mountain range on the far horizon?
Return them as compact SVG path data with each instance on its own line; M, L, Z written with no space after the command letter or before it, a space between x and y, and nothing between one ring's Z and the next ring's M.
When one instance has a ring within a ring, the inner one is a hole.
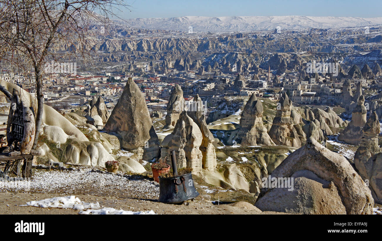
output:
M358 17L308 17L308 16L234 16L200 17L184 16L178 18L132 18L127 25L133 28L163 29L194 32L234 32L302 28L348 28L382 24L379 18Z

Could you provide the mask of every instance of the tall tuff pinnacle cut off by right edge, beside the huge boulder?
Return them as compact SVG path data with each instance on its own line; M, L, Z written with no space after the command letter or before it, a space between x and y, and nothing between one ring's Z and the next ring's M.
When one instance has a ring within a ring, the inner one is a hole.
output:
M382 204L382 148L378 145L380 124L375 111L367 119L363 132L364 136L354 155L354 165L361 177L369 180L374 200Z

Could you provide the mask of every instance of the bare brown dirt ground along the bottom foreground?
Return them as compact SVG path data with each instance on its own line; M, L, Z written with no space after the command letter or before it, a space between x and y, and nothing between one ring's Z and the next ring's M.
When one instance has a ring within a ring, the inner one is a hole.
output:
M261 212L253 205L246 202L235 204L214 205L212 202L197 197L180 205L162 204L157 200L136 199L124 196L97 196L72 193L84 202L99 202L101 206L123 209L126 211L150 211L157 214L278 214L276 212ZM23 192L1 192L0 214L78 214L78 210L64 208L39 208L20 207L32 200L41 200L64 195L23 193Z

